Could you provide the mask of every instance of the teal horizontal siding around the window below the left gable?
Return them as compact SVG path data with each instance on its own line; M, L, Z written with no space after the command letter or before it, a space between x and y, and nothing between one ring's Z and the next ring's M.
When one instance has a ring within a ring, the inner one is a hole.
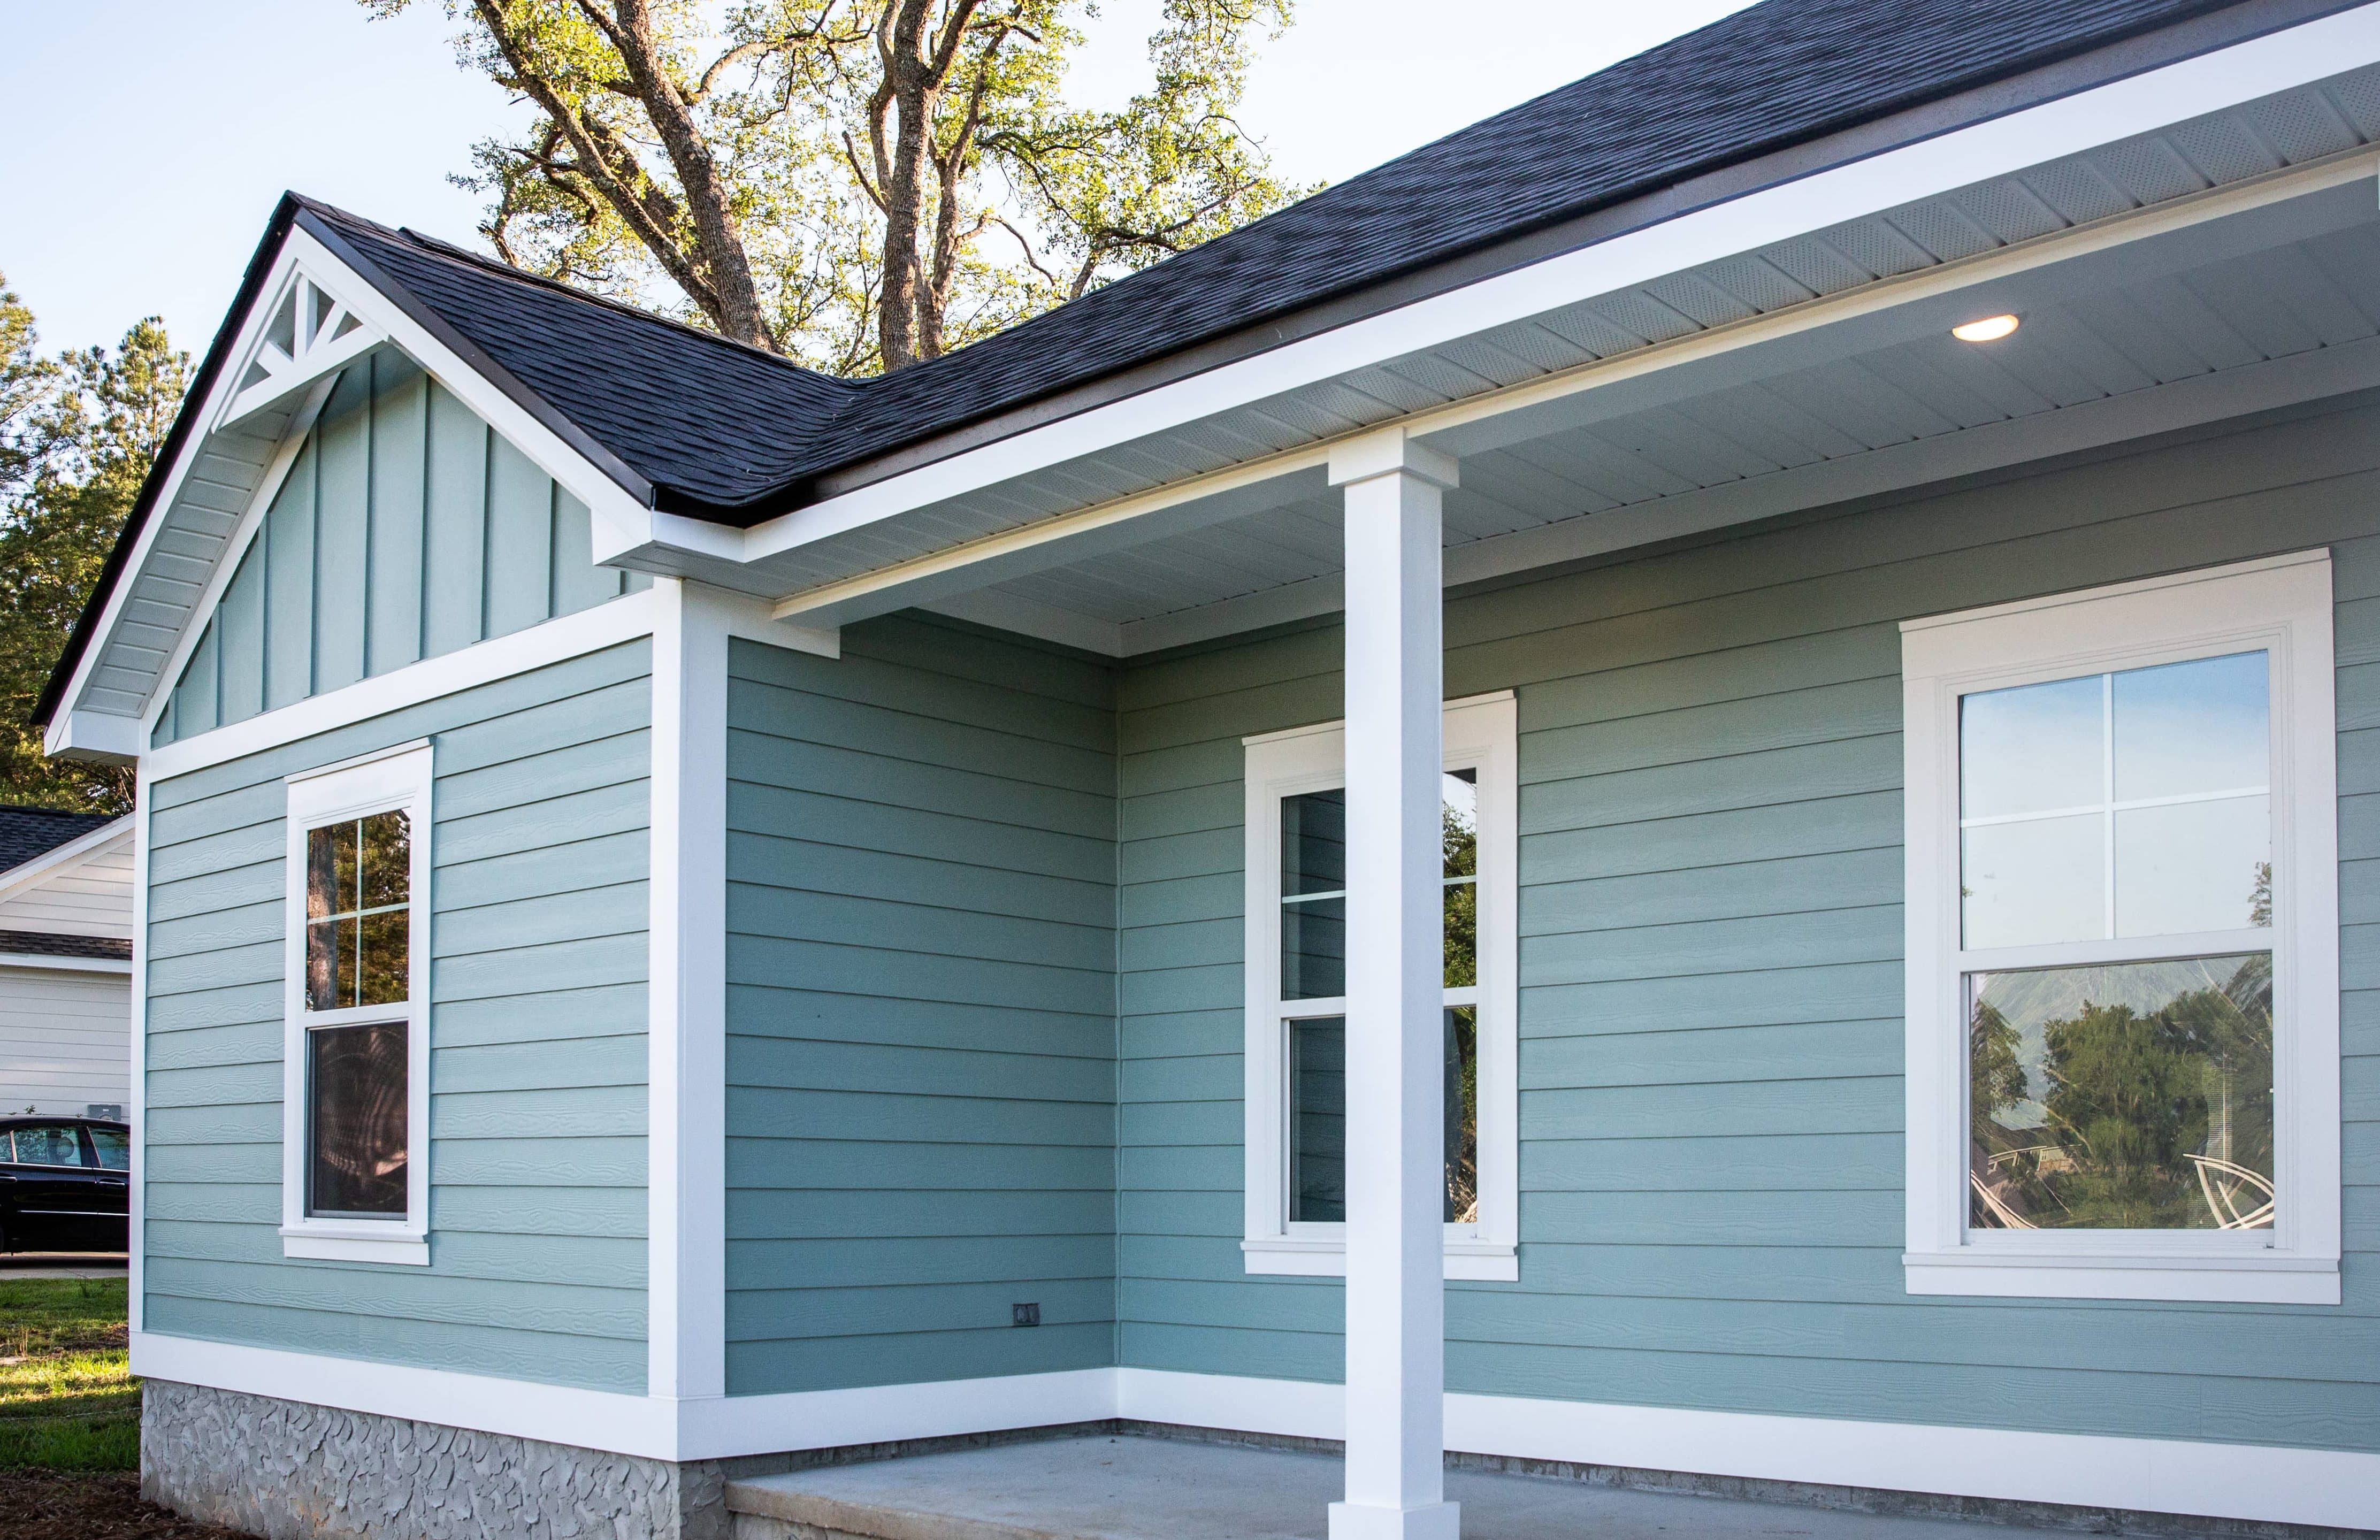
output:
M652 645L150 788L148 1331L645 1388ZM283 776L416 738L431 1264L281 1254Z

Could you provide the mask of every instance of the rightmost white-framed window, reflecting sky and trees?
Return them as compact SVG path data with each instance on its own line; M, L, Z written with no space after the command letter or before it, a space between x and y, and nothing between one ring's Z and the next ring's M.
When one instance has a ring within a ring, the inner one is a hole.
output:
M1902 633L1909 1288L2335 1304L2328 557Z

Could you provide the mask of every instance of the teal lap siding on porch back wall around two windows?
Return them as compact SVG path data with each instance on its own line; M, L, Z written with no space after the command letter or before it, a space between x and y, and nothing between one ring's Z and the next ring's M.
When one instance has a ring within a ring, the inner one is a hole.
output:
M2259 555L2337 576L2344 1304L1902 1288L1897 621ZM1240 735L1340 631L1126 669L1119 1342L1338 1381L1340 1285L1240 1266ZM2380 405L2140 445L1447 605L1521 721L1521 1278L1447 1388L2380 1450Z

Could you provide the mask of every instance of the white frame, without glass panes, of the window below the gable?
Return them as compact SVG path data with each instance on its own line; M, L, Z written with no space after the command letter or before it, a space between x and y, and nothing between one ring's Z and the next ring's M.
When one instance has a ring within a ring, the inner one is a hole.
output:
M324 1262L428 1266L431 1219L431 745L402 743L286 778L286 938L281 1035L281 1254ZM305 924L309 828L402 812L412 821L409 940L405 1004L309 1012L305 1004ZM364 1021L405 1021L405 1216L317 1219L305 1212L307 1178L307 1031Z

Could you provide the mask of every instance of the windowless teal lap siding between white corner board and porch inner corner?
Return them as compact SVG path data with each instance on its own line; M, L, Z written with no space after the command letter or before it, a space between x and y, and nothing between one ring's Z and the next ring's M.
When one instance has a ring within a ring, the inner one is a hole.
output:
M1104 664L731 643L731 1395L1114 1361L1114 774Z

